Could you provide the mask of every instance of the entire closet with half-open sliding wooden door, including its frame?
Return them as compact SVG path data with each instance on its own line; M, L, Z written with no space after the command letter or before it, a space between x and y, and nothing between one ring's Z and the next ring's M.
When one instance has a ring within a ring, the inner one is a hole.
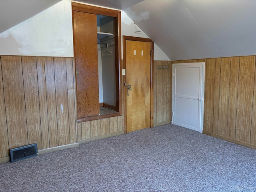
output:
M122 115L121 12L72 2L77 121Z

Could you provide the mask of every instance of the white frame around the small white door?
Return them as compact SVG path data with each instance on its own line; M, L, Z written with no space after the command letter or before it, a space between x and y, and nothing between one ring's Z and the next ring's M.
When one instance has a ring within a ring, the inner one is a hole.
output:
M201 114L198 116L198 119L200 119L200 122L198 123L198 126L200 126L199 132L202 133L204 129L204 82L205 82L205 62L190 62L190 63L175 63L172 64L172 112L171 112L171 123L174 124L174 93L175 93L175 81L174 81L174 68L175 66L193 66L193 65L201 65L202 66L202 80L201 80L201 98L198 98L198 100L201 101ZM175 76L176 78L176 76ZM193 130L193 129L192 129Z

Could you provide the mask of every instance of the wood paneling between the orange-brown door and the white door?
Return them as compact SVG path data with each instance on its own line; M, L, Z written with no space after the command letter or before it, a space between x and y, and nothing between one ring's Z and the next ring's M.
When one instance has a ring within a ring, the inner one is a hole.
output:
M158 69L157 66L168 66ZM153 70L153 92L154 92L154 126L170 123L171 95L172 95L172 62L154 61Z

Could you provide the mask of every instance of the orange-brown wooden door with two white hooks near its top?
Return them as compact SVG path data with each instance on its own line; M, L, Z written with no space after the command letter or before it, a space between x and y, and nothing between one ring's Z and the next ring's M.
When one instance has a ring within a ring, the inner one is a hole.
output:
M150 52L150 42L126 40L127 132L150 127Z

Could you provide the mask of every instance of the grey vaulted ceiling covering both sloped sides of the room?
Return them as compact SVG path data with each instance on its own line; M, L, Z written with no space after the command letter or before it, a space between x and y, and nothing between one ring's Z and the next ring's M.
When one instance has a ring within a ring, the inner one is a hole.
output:
M28 17L28 9L60 0L0 0L0 32L2 23L16 14L2 6L10 1ZM78 1L123 10L171 60L256 54L255 0Z

